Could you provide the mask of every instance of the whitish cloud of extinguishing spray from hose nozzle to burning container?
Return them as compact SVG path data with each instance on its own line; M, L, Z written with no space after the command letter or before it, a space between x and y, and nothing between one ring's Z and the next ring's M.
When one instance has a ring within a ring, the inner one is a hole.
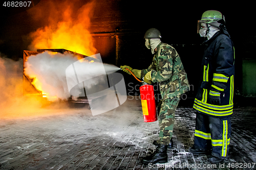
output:
M70 98L70 91L67 85L66 76L68 72L66 69L71 66L73 70L72 64L77 61L78 58L71 53L52 54L51 52L44 52L28 57L25 62L24 73L31 79L36 78L36 81L32 83L38 90L47 94L48 100L68 100ZM80 63L80 68L76 67L76 71L83 77L83 80L90 79L90 83L85 84L89 87L97 86L102 82L102 77L99 76L105 74L105 72L102 73L102 66L107 73L120 69L114 65L99 62L91 63L83 59L79 60L78 63ZM83 89L82 91L72 91L72 95L79 96L81 92L83 92ZM84 94L81 96L84 96Z

